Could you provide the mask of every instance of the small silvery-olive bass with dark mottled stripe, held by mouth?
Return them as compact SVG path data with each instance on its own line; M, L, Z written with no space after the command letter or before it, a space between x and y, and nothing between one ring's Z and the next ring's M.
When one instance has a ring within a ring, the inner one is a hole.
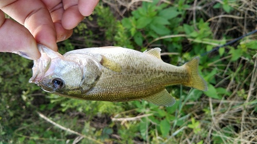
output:
M183 85L207 91L198 73L199 57L182 66L164 63L160 48L144 52L122 47L72 50L64 55L38 45L41 57L34 60L32 77L44 91L83 100L145 100L170 107L175 98L167 86Z

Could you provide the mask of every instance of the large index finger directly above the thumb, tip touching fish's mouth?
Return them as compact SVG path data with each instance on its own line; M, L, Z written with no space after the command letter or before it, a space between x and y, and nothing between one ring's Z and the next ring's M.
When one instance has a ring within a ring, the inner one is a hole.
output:
M37 43L57 51L56 30L45 5L39 0L12 0L0 3L0 8L24 25Z

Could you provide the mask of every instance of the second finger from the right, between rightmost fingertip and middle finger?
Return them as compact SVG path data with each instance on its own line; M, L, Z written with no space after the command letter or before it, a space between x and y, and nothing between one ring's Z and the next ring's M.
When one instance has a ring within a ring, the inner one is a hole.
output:
M62 26L69 30L75 28L84 18L79 12L78 1L64 0L63 8Z

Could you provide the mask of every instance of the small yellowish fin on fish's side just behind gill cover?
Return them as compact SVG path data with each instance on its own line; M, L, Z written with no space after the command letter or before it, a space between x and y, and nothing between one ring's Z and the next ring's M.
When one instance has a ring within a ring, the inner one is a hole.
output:
M104 67L106 67L112 71L121 72L121 66L118 63L106 58L104 55L101 55L101 56L102 56L102 59L100 61L101 65L103 65Z

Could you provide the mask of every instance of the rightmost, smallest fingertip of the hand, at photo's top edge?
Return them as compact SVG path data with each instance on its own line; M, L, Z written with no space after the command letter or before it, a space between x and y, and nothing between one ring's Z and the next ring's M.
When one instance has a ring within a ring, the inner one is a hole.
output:
M97 6L99 0L79 0L79 11L84 16L89 16Z

